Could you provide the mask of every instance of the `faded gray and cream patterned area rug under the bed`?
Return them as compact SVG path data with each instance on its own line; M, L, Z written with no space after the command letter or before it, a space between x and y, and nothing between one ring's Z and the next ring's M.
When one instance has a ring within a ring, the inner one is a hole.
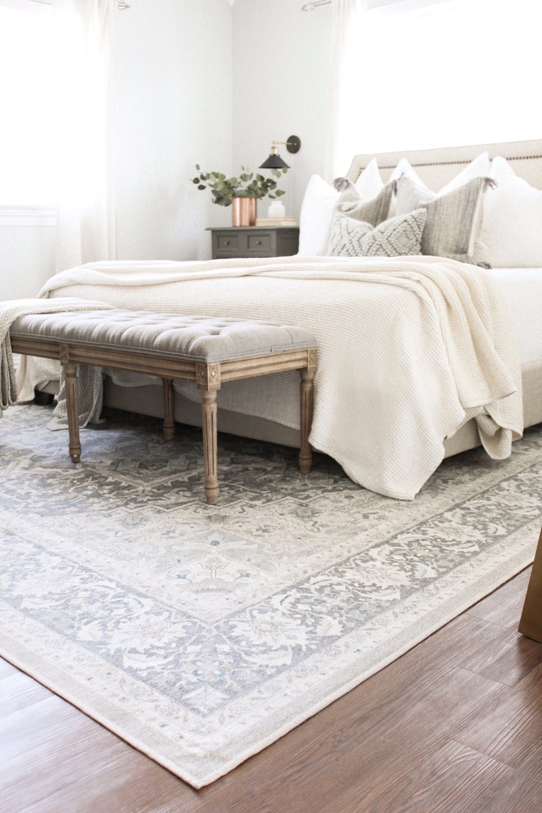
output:
M110 412L83 463L50 410L0 421L0 651L195 787L409 650L531 562L542 428L445 461L414 502L317 454Z

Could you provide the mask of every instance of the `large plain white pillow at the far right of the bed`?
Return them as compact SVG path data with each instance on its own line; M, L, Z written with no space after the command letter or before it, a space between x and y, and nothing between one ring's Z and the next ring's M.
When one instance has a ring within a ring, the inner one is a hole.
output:
M483 196L476 263L493 268L542 266L542 191L518 178L506 159L494 158L496 189Z

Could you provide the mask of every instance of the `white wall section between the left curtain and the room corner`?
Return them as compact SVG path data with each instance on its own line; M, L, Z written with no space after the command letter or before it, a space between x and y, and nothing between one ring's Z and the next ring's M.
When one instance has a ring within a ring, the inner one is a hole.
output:
M115 26L119 258L210 257L205 228L228 215L189 179L196 163L232 165L232 10L132 0Z

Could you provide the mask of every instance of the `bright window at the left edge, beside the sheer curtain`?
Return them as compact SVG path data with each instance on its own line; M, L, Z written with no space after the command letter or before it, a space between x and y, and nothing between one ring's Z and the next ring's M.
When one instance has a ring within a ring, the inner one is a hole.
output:
M42 0L0 0L0 206L54 206L54 25Z

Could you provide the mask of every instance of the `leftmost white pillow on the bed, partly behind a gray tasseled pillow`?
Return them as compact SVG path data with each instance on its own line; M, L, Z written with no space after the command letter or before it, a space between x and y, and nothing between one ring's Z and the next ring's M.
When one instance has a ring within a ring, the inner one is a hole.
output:
M373 198L383 186L378 163L371 159L355 187L361 198ZM339 195L335 187L319 175L310 176L299 215L299 256L317 257L325 253Z

